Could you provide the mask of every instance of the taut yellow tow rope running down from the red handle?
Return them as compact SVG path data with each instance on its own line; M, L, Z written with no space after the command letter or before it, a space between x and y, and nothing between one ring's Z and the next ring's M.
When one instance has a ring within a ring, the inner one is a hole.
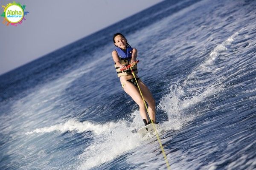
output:
M131 67L133 67L133 65L131 65ZM138 84L138 82L137 82L137 79L136 79L135 74L134 74L134 72L132 71L132 68L131 68L131 67L129 67L129 68L131 69L131 73L132 73L132 75L134 76L134 79L135 79L135 81L136 81L136 83L137 83L137 86L138 86L138 89L139 89L139 91L140 91L140 86L139 86L139 84ZM144 105L145 105L146 110L147 110L147 112L148 112L148 107L147 107L147 104L146 104L146 102L145 102L145 99L144 99L144 97L143 97L141 91L140 91L140 95L141 95L141 97L142 97L142 99L143 99ZM149 114L148 114L148 116L149 116L149 119L151 119L151 117L150 117ZM167 166L168 170L171 170L169 161L167 160L166 153L164 152L163 145L162 145L162 142L161 142L161 140L160 140L159 134L158 134L158 132L157 132L156 126L154 125L153 122L152 122L152 126L153 126L153 129L154 129L155 133L156 133L157 141L159 142L160 148L161 148L161 150L162 150L163 158L164 158L165 161L166 161L166 166Z

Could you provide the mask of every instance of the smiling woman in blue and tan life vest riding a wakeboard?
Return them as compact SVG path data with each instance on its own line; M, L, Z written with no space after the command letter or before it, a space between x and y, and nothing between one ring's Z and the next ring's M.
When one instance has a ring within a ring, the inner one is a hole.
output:
M131 45L128 44L125 36L121 33L116 33L113 35L113 42L116 45L116 49L112 52L112 57L115 62L117 76L120 77L122 88L139 105L140 116L142 117L145 125L148 125L151 122L155 123L156 111L154 98L147 86L136 75L138 73L136 64L137 49L131 48ZM132 70L136 75L135 77L145 99L145 102L147 102L148 104L148 114L151 118L151 121L147 117L146 108L134 76L131 74L131 70L126 67L130 64L133 65ZM126 70L121 71L121 69Z

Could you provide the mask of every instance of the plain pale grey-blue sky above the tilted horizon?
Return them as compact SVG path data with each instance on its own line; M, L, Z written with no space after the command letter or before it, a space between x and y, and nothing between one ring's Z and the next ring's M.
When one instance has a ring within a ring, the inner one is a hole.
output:
M161 1L16 0L29 14L17 27L5 26L0 17L0 75ZM0 5L12 2L1 0Z

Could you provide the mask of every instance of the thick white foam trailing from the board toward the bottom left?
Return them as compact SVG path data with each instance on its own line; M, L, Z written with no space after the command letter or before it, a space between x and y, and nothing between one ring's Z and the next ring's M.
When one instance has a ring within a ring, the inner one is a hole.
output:
M132 117L134 119L131 124L124 120L119 121L116 126L109 127L108 131L96 136L93 144L85 148L84 153L79 156L79 159L83 161L78 169L87 170L99 166L139 146L143 138L131 132L131 129L136 128L134 125L138 124L139 112L132 113ZM140 122L139 127L143 125L141 119Z

